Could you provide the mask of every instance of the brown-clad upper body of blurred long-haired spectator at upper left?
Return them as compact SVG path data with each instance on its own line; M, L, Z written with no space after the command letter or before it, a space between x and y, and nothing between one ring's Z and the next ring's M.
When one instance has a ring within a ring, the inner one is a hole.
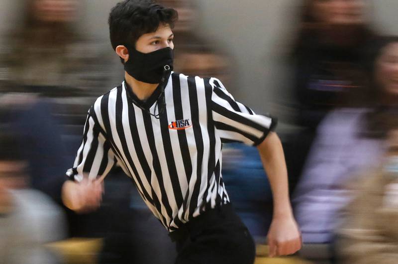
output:
M81 1L23 1L21 23L3 36L1 90L22 89L47 96L102 92L107 87L104 62L109 56L104 51L108 43L79 32Z

